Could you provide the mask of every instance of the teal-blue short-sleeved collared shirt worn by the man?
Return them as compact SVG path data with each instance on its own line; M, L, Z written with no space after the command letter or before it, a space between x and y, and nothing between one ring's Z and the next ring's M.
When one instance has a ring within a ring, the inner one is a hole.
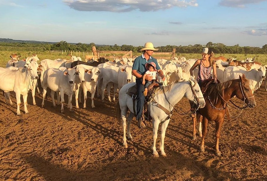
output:
M157 62L157 60L154 58L154 57L149 57L148 60L146 60L144 54L142 54L141 56L139 57L136 57L135 58L135 61L132 65L132 69L133 70L137 70L137 72L141 75L144 75L145 72L147 71L146 67L145 67L145 64L148 63L148 62L154 62L156 64L156 69L157 71L160 70L160 67L159 67L159 64Z

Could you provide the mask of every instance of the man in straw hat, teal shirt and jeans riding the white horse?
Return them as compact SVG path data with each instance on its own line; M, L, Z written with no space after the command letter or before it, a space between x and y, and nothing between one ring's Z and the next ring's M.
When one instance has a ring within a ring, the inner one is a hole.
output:
M136 77L136 85L137 85L137 112L136 112L136 119L138 120L138 127L139 128L145 128L145 122L141 119L143 107L145 103L145 95L143 92L145 91L145 85L142 84L142 78L145 72L147 71L145 68L145 64L149 62L154 62L156 64L156 69L159 74L159 76L162 78L162 81L165 80L165 76L160 69L157 60L154 57L151 57L154 51L158 49L155 49L153 44L151 42L146 42L145 47L140 49L140 52L142 51L142 55L137 57L133 63L132 66L132 75ZM151 81L152 76L147 75L145 80Z

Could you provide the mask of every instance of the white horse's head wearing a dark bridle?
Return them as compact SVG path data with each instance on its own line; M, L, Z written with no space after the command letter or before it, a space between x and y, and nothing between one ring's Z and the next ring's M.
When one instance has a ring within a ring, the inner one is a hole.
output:
M191 76L189 78L189 83L191 88L189 89L189 91L186 92L186 97L199 108L205 107L205 99L197 81L195 81L194 78Z

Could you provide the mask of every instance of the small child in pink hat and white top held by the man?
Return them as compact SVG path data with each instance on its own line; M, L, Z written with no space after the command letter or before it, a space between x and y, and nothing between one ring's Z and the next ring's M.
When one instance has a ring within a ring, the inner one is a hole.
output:
M144 95L147 96L147 91L148 91L148 88L147 87L150 84L158 85L158 83L157 83L157 79L156 79L156 74L157 74L156 64L154 62L149 62L149 63L146 63L145 64L145 67L146 67L147 71L143 75L143 82L142 82L142 84L145 85ZM145 77L147 75L152 76L152 81L146 81L145 80ZM154 85L151 85L151 86L153 87Z

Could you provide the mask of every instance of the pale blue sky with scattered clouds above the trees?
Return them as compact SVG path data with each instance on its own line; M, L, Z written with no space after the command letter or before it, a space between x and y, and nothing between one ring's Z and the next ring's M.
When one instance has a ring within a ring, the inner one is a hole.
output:
M0 38L105 45L267 44L267 0L0 0Z

